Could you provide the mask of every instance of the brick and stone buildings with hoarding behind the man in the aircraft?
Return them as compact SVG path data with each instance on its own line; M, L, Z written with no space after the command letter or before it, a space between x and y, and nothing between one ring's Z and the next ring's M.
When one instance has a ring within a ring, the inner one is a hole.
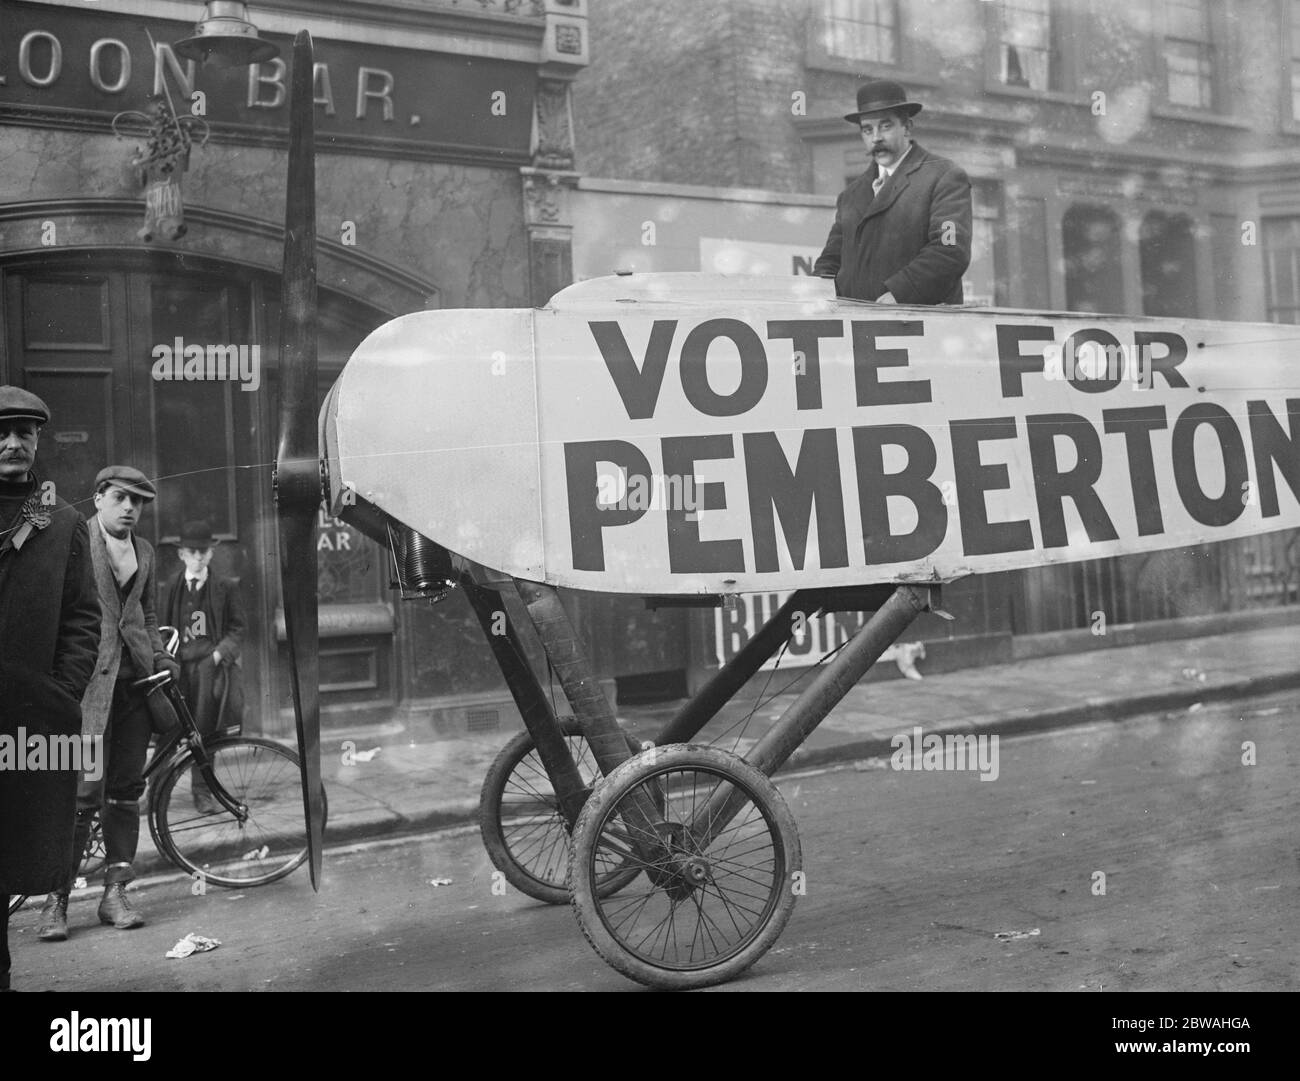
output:
M766 244L807 273L870 164L842 114L875 77L924 103L916 140L972 179L967 303L1300 320L1300 0L606 0L590 26L580 195L610 209L603 249L584 216L578 277L723 269L727 240L736 269ZM945 591L954 622L919 629L932 656L1000 656L1011 635L1297 600L1300 537L1277 533L980 576ZM693 665L754 618L694 620Z

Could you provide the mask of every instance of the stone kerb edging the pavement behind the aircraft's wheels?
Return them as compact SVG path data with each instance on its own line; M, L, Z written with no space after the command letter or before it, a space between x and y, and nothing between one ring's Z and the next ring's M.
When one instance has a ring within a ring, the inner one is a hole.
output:
M1216 683L1197 683L1187 687L1170 687L1148 694L1124 695L1096 699L1057 709L1036 709L1030 713L1000 713L980 717L975 721L941 721L922 725L927 734L946 735L959 733L989 734L998 737L1028 735L1050 731L1060 728L1096 724L1098 721L1123 721L1141 713L1166 709L1186 709L1197 702L1222 702L1232 698L1252 698L1275 694L1300 687L1300 669L1294 672L1273 672L1265 676L1251 676L1243 680L1228 680ZM900 724L896 731L907 731L914 725ZM888 757L893 754L893 735L870 735L862 739L842 739L828 746L803 746L777 772L789 773L800 769L853 763L863 759ZM326 828L326 850L335 845L355 843L365 839L400 837L403 834L429 833L438 829L464 826L478 821L478 796L464 798L430 807L426 813L403 815L394 819L391 812L382 817L367 820L364 815L339 826ZM136 860L140 876L176 872L174 865L161 854L150 852ZM295 872L296 873L296 872Z

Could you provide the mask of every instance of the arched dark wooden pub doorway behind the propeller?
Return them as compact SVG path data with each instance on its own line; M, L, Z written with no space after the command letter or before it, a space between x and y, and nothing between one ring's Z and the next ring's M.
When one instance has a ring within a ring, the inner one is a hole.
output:
M139 533L159 551L160 582L179 568L182 524L209 522L221 542L213 568L239 579L248 613L246 730L292 731L270 487L277 279L169 252L32 256L6 261L0 279L0 381L40 395L52 414L38 451L42 479L88 516L104 465L155 478L159 498ZM320 296L317 405L352 350L389 317L339 294ZM186 346L204 351L204 366L190 369L195 378L174 361ZM390 715L400 682L381 550L324 513L317 525L326 722Z

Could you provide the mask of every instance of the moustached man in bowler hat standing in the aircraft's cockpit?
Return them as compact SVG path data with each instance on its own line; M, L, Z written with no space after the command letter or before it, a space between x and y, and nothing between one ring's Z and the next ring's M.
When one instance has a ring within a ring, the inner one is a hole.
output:
M858 126L871 168L841 194L812 273L840 296L884 304L961 304L971 261L971 182L911 138L922 109L890 79L858 88Z

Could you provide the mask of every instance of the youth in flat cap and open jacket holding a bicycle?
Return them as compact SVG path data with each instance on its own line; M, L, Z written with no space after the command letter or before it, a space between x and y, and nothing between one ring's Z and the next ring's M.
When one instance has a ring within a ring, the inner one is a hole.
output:
M139 799L144 794L144 759L153 731L146 696L131 687L136 680L166 668L172 678L179 665L162 648L153 611L153 547L135 535L153 485L130 465L109 465L95 477L95 515L90 518L90 552L103 609L99 659L82 696L82 735L103 737L104 769L99 778L82 777L77 789L77 830L73 871L86 847L91 819L100 812L107 869L99 921L121 930L144 924L126 899L126 884L140 833ZM38 937L68 938L69 874L49 894Z

